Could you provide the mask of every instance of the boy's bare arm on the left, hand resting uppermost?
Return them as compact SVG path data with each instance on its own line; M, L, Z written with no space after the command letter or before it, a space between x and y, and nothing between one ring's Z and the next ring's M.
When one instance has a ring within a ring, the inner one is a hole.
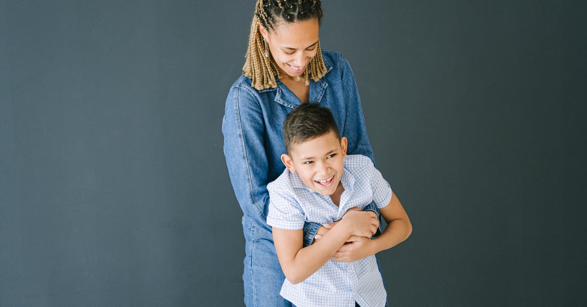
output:
M349 210L342 220L319 241L305 248L302 248L302 229L273 228L275 251L285 277L291 283L304 281L332 258L349 236L371 236L376 231L377 225L375 223L367 225L367 223L373 220L372 216L362 214L359 209ZM353 232L353 229L360 229L360 231Z

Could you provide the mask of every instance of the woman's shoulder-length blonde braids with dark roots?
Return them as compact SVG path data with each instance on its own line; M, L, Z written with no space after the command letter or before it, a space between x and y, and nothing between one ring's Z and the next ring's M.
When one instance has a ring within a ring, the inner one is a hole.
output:
M281 79L281 72L272 56L266 58L265 52L269 52L265 41L259 32L259 25L265 29L274 29L278 22L296 22L317 18L318 23L322 18L320 0L257 0L255 14L251 22L251 32L245 65L242 66L242 74L251 78L252 86L261 90L277 87L275 77ZM318 81L326 74L326 66L322 59L320 42L316 46L316 55L309 62L302 76L309 84L309 78Z

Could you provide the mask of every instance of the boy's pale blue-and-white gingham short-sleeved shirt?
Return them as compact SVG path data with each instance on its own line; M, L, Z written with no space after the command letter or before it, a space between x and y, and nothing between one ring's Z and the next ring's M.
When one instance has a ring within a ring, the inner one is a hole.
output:
M336 206L330 196L308 188L297 173L288 169L267 185L269 214L267 223L275 228L303 229L304 222L331 223L342 219L350 208L363 208L375 201L378 208L392 198L392 189L373 162L362 155L345 158L345 169L340 178L345 191ZM375 256L353 262L329 259L322 268L296 285L285 279L281 296L294 305L380 307L385 305L387 293Z

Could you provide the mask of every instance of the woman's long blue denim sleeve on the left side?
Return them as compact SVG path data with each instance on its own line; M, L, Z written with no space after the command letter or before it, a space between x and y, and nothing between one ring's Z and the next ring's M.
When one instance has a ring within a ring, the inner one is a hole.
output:
M251 91L234 85L228 92L222 118L224 156L242 212L264 218L269 202L264 115Z

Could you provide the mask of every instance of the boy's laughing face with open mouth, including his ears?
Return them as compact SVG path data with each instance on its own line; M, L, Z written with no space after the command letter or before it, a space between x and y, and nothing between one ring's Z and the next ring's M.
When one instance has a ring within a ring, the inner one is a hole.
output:
M289 155L281 161L290 172L296 172L302 182L322 195L332 195L340 183L346 157L346 138L339 139L334 132L318 136L301 144L294 144Z

